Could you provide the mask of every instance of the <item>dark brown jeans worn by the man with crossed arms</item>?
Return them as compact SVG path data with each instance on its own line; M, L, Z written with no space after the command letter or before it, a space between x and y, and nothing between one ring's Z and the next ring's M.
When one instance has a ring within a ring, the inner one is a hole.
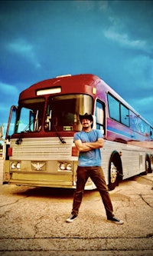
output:
M109 197L109 191L106 185L103 169L100 166L80 167L77 168L77 188L73 194L73 210L72 214L78 215L81 201L83 199L84 187L88 178L91 178L101 195L104 207L106 209L107 218L112 218L113 208Z

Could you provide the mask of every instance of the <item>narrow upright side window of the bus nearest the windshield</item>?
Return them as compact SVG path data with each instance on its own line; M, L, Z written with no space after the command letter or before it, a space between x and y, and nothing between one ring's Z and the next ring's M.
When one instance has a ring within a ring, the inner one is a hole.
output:
M101 101L96 101L96 128L101 130L103 132L103 135L106 133L105 128L104 128L104 120L105 120L105 107L103 102Z

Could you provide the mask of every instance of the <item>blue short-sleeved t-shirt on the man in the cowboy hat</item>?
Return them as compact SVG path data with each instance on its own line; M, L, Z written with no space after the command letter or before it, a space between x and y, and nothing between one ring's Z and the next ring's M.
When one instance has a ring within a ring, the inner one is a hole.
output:
M91 130L90 132L78 131L74 135L74 141L81 140L82 142L95 142L98 138L103 138L102 131ZM86 152L80 152L78 158L79 166L101 166L101 154L99 148L92 149Z

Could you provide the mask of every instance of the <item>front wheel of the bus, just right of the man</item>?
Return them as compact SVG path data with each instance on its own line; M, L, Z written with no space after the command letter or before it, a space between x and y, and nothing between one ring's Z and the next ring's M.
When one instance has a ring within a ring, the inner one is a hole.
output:
M119 185L119 180L122 178L122 161L119 153L113 151L109 159L109 191Z

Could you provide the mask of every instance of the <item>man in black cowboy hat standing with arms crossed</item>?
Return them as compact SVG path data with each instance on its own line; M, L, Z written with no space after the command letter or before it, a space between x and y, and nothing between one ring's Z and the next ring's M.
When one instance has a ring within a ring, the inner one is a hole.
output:
M109 198L109 191L106 185L103 169L101 168L100 149L103 148L103 134L100 130L93 129L93 116L80 115L82 131L74 135L74 143L80 151L77 167L77 188L73 195L73 209L67 222L73 222L78 215L80 204L83 198L83 191L87 179L90 177L101 195L106 217L108 221L116 224L123 224L122 220L115 218L112 202Z

